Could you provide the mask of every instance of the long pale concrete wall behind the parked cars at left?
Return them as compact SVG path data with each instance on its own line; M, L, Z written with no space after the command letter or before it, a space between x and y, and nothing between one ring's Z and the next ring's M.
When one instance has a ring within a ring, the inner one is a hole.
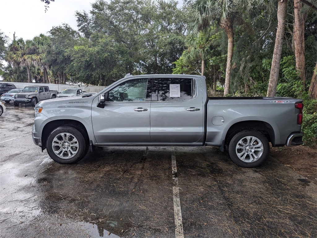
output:
M11 82L9 82L11 83ZM50 90L56 90L61 92L64 89L69 88L79 88L78 85L69 85L69 84L53 84L53 83L15 83L12 82L17 89L23 89L25 86L32 86L32 85L40 85L40 86L49 86ZM98 93L100 90L104 89L105 86L93 86L93 85L80 85L80 88L87 93Z

